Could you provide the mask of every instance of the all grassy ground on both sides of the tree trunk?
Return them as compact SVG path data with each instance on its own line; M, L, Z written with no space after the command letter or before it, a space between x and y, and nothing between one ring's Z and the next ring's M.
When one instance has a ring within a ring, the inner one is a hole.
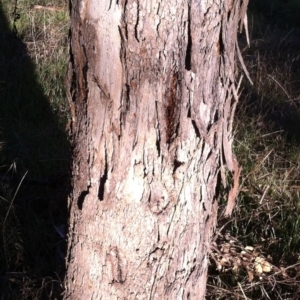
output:
M0 295L60 299L70 151L64 0L0 3ZM221 199L207 299L298 299L300 24L297 0L250 0L251 47L231 218Z

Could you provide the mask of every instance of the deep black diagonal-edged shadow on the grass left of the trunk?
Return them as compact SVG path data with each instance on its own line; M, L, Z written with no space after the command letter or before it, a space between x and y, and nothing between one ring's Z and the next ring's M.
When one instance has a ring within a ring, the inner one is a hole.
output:
M69 141L13 29L0 3L0 297L59 299Z

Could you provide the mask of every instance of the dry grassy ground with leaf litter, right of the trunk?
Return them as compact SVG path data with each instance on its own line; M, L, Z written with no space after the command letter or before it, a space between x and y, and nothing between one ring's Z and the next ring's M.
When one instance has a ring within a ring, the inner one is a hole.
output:
M251 47L241 37L240 48L254 85L244 81L234 143L240 194L230 219L220 207L207 298L298 299L300 4L250 9Z

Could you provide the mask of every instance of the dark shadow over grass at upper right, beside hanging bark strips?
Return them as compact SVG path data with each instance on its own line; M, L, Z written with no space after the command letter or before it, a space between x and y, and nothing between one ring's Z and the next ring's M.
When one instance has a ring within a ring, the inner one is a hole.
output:
M299 145L300 3L252 0L248 19L250 48L244 36L239 44L254 85L246 79L237 118L260 119L263 131Z

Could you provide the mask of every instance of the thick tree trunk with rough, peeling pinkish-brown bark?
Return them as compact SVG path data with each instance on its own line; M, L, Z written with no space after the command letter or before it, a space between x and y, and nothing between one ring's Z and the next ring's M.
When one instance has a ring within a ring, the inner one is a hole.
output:
M204 299L247 2L71 1L65 299Z

